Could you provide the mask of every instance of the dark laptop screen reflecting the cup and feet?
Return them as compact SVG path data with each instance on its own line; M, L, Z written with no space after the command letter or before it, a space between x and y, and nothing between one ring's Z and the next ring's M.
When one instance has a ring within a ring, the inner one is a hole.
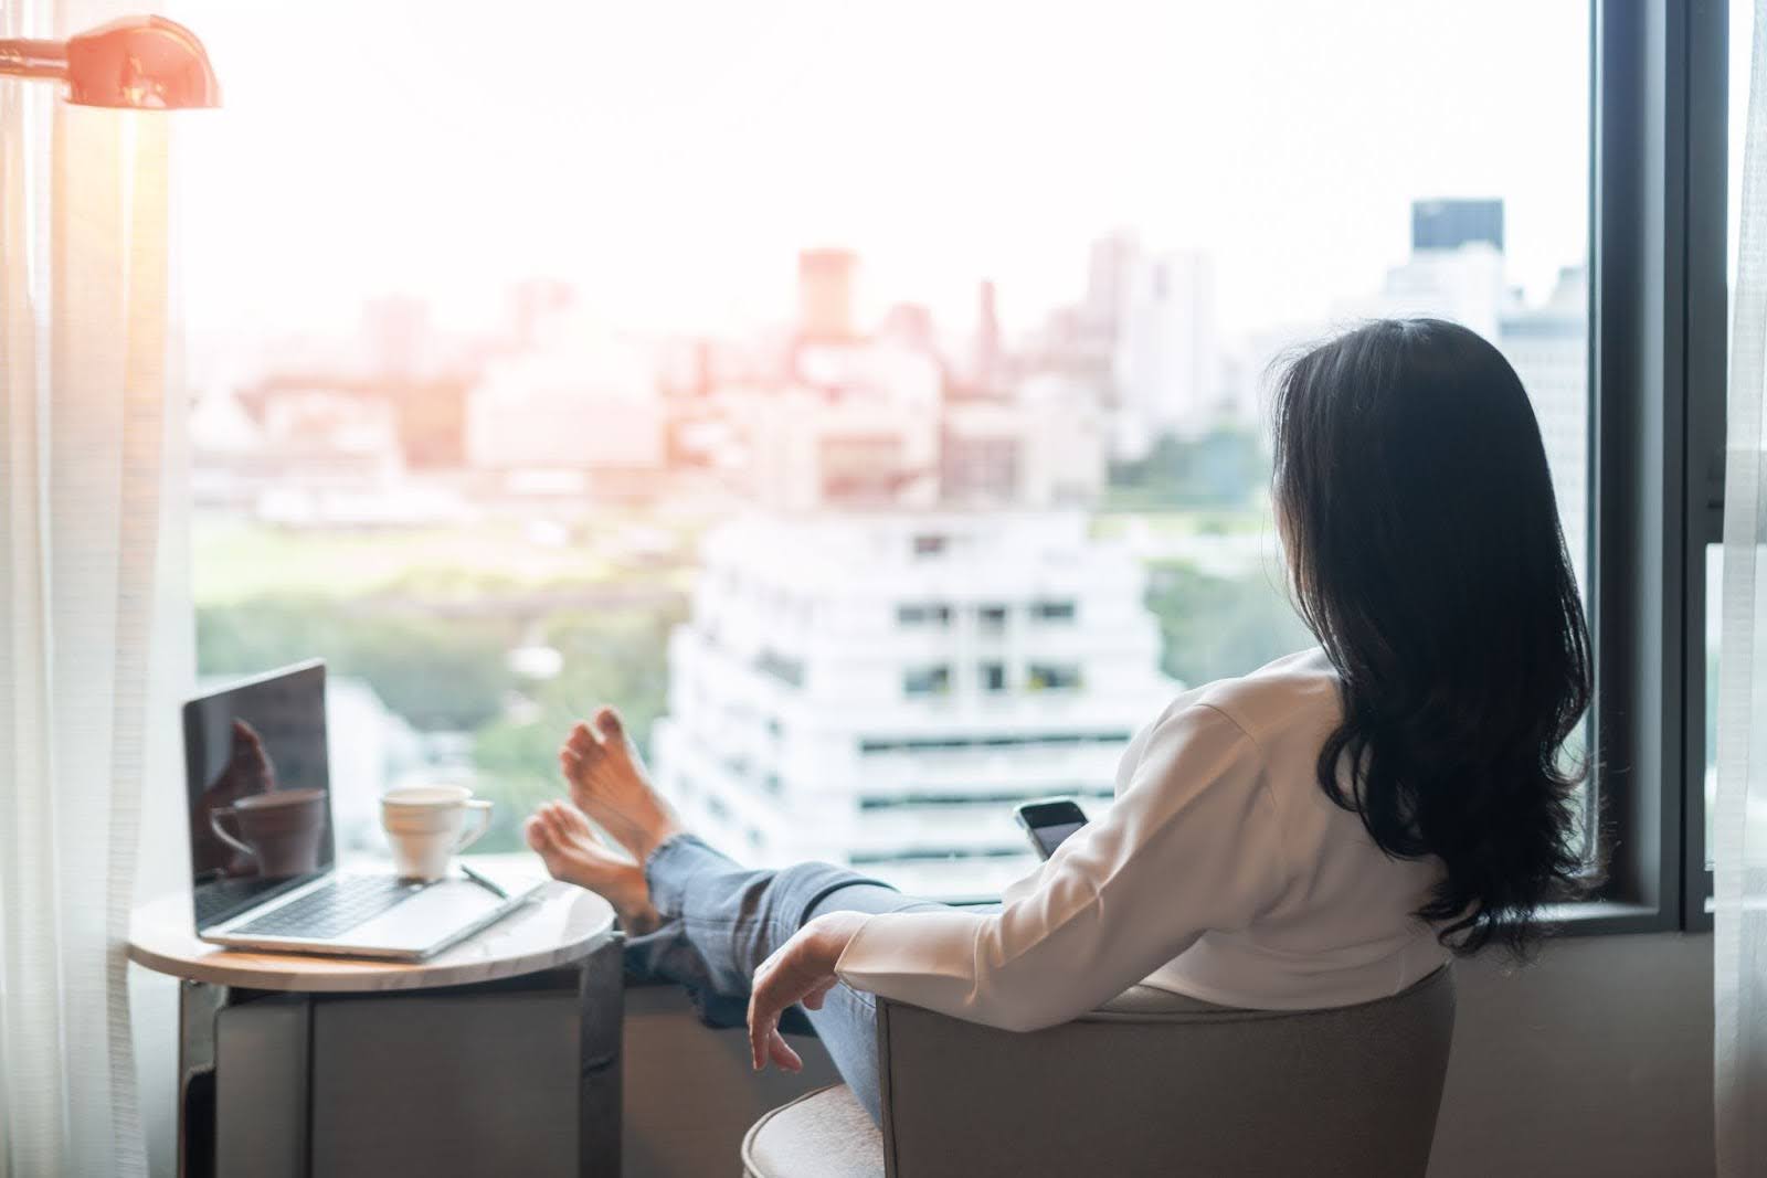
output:
M184 705L184 765L198 931L330 869L322 662Z

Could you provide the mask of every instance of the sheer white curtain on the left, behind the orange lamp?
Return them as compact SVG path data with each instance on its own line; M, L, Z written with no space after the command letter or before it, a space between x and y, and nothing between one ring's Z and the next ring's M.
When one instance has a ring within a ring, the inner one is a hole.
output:
M0 30L117 11L27 0ZM145 1173L122 947L175 715L150 708L168 131L0 79L0 1178Z

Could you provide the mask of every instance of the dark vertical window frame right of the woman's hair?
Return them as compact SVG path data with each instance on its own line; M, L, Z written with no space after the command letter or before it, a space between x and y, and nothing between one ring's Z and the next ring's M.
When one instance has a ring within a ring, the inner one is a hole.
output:
M1555 911L1573 934L1710 927L1703 625L1723 491L1728 14L1726 0L1594 0L1590 747L1606 876Z

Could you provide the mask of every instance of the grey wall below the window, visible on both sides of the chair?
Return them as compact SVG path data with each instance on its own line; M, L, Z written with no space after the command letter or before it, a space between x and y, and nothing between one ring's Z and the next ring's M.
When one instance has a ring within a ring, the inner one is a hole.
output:
M1712 1173L1712 938L1587 936L1520 971L1460 966L1460 1017L1430 1178ZM749 1072L668 989L627 993L626 1178L735 1173L747 1127L832 1081Z

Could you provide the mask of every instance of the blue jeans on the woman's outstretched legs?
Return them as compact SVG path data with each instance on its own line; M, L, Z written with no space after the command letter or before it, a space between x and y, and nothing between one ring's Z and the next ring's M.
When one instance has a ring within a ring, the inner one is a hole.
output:
M691 834L675 835L652 851L645 880L663 925L627 940L626 971L634 980L686 985L707 1026L746 1024L756 966L811 917L944 908L832 864L751 871ZM876 1001L871 994L836 985L822 1010L793 1012L808 1016L841 1079L871 1120L878 1120ZM792 1030L792 1023L781 1019L781 1030Z

